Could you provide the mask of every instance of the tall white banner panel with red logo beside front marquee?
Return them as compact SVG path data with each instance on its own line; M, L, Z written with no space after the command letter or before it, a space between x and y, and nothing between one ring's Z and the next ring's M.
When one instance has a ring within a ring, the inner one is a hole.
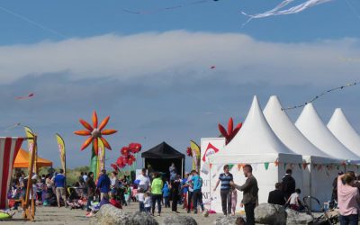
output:
M217 195L211 195L211 190L213 189L213 186L215 185L218 177L215 175L214 178L211 178L211 171L210 171L210 167L208 167L209 169L209 173L206 174L203 171L206 170L206 168L204 169L204 167L209 166L208 163L206 163L206 157L205 157L205 161L203 161L203 157L205 155L206 150L209 147L209 144L211 144L214 148L218 148L219 152L222 151L224 149L225 146L225 138L203 138L201 139L201 163L200 163L200 176L202 177L202 202L205 203L205 208L208 210L213 210L211 208L211 204L213 205L213 207L215 207L216 209L219 206L218 201L220 201L220 194L219 196ZM214 153L216 154L216 153ZM214 172L215 170L212 170L212 172ZM222 171L222 168L221 170ZM211 184L212 184L212 189L211 189ZM213 199L211 201L211 198ZM221 211L221 203L220 203L220 211Z

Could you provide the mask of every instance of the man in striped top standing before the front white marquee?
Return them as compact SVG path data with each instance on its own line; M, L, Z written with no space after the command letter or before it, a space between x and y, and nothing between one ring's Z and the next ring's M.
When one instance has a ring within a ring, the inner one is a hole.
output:
M216 188L221 182L220 187L220 197L221 197L221 206L222 212L224 215L229 215L231 213L231 192L230 192L230 181L234 181L232 175L229 173L229 165L224 166L224 173L219 175L219 180L215 184L213 189L216 192Z

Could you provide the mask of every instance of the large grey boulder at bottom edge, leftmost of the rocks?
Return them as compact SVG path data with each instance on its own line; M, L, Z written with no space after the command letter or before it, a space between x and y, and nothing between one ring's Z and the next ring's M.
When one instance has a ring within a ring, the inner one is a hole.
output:
M158 225L157 220L144 212L126 213L104 204L99 211L90 219L91 225Z

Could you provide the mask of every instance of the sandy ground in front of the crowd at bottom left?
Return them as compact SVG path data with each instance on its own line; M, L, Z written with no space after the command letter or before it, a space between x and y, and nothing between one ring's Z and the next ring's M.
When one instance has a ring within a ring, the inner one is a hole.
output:
M133 212L139 210L138 202L131 202L130 206L125 206L124 211ZM198 222L198 224L213 224L220 214L211 214L208 218L204 218L202 214L187 214L186 211L179 208L180 215L191 215ZM157 213L155 213L157 215ZM160 217L155 217L159 224L165 219L166 215L171 215L171 209L162 208ZM82 210L69 210L64 207L38 207L36 210L35 221L23 221L22 211L17 212L14 215L14 220L0 220L0 224L48 224L48 225L59 225L59 224L88 224L89 219L85 217L85 211Z

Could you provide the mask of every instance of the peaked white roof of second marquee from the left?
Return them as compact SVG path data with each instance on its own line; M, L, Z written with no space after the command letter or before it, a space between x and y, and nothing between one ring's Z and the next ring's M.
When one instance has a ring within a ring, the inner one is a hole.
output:
M315 159L317 162L338 162L337 159L330 157L311 144L311 142L302 135L302 132L295 127L287 113L282 109L283 106L279 99L273 95L266 104L264 115L272 130L274 130L277 137L283 141L287 148L292 149L295 153L302 156L317 157Z

